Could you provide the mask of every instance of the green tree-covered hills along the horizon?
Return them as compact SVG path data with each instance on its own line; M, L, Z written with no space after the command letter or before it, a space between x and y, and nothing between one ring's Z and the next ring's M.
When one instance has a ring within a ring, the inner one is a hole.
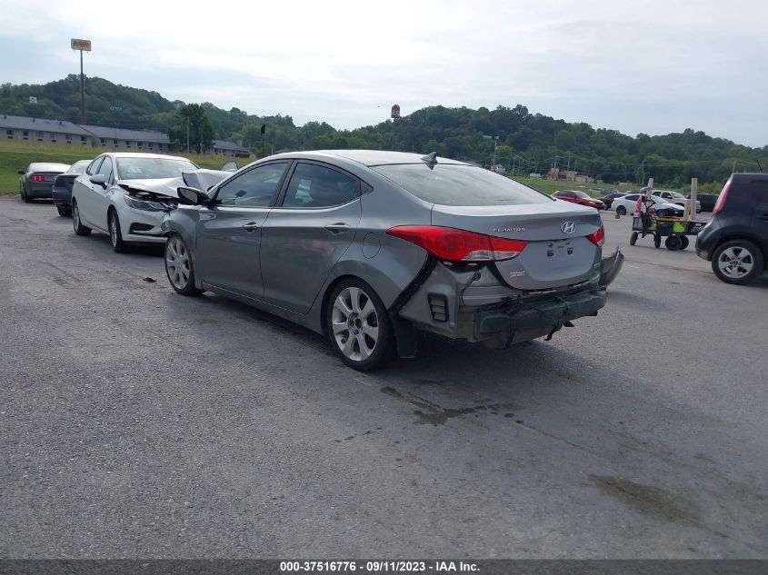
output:
M179 125L185 103L156 92L113 84L102 78L85 82L88 124L115 125L168 133ZM35 95L37 104L29 104ZM546 173L554 164L575 169L605 183L643 183L649 177L683 189L692 177L717 188L736 171L768 168L768 145L750 148L687 129L680 134L630 136L616 130L568 123L534 114L524 105L494 110L430 106L404 116L354 130L336 130L322 121L294 125L290 115L258 116L238 108L222 110L201 104L219 139L242 142L262 154L260 128L266 125L266 154L300 149L392 149L438 154L489 165L495 159L508 173ZM118 109L119 111L115 111ZM49 84L2 84L0 113L35 115L73 122L79 117L79 83L75 74ZM491 136L491 137L489 137Z

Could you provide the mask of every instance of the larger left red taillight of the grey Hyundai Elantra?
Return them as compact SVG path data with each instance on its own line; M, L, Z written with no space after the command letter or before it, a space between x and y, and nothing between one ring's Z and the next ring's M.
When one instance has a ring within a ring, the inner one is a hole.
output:
M527 242L434 225L398 225L386 231L415 243L445 262L502 262L525 249Z

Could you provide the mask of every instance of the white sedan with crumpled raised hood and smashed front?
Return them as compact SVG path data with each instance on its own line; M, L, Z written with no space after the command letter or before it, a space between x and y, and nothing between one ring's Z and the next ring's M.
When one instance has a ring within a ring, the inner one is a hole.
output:
M125 251L129 243L165 243L160 231L163 210L178 201L176 190L185 184L183 173L214 174L212 183L228 175L201 171L189 160L172 155L101 154L72 187L75 233L109 233L115 252Z

